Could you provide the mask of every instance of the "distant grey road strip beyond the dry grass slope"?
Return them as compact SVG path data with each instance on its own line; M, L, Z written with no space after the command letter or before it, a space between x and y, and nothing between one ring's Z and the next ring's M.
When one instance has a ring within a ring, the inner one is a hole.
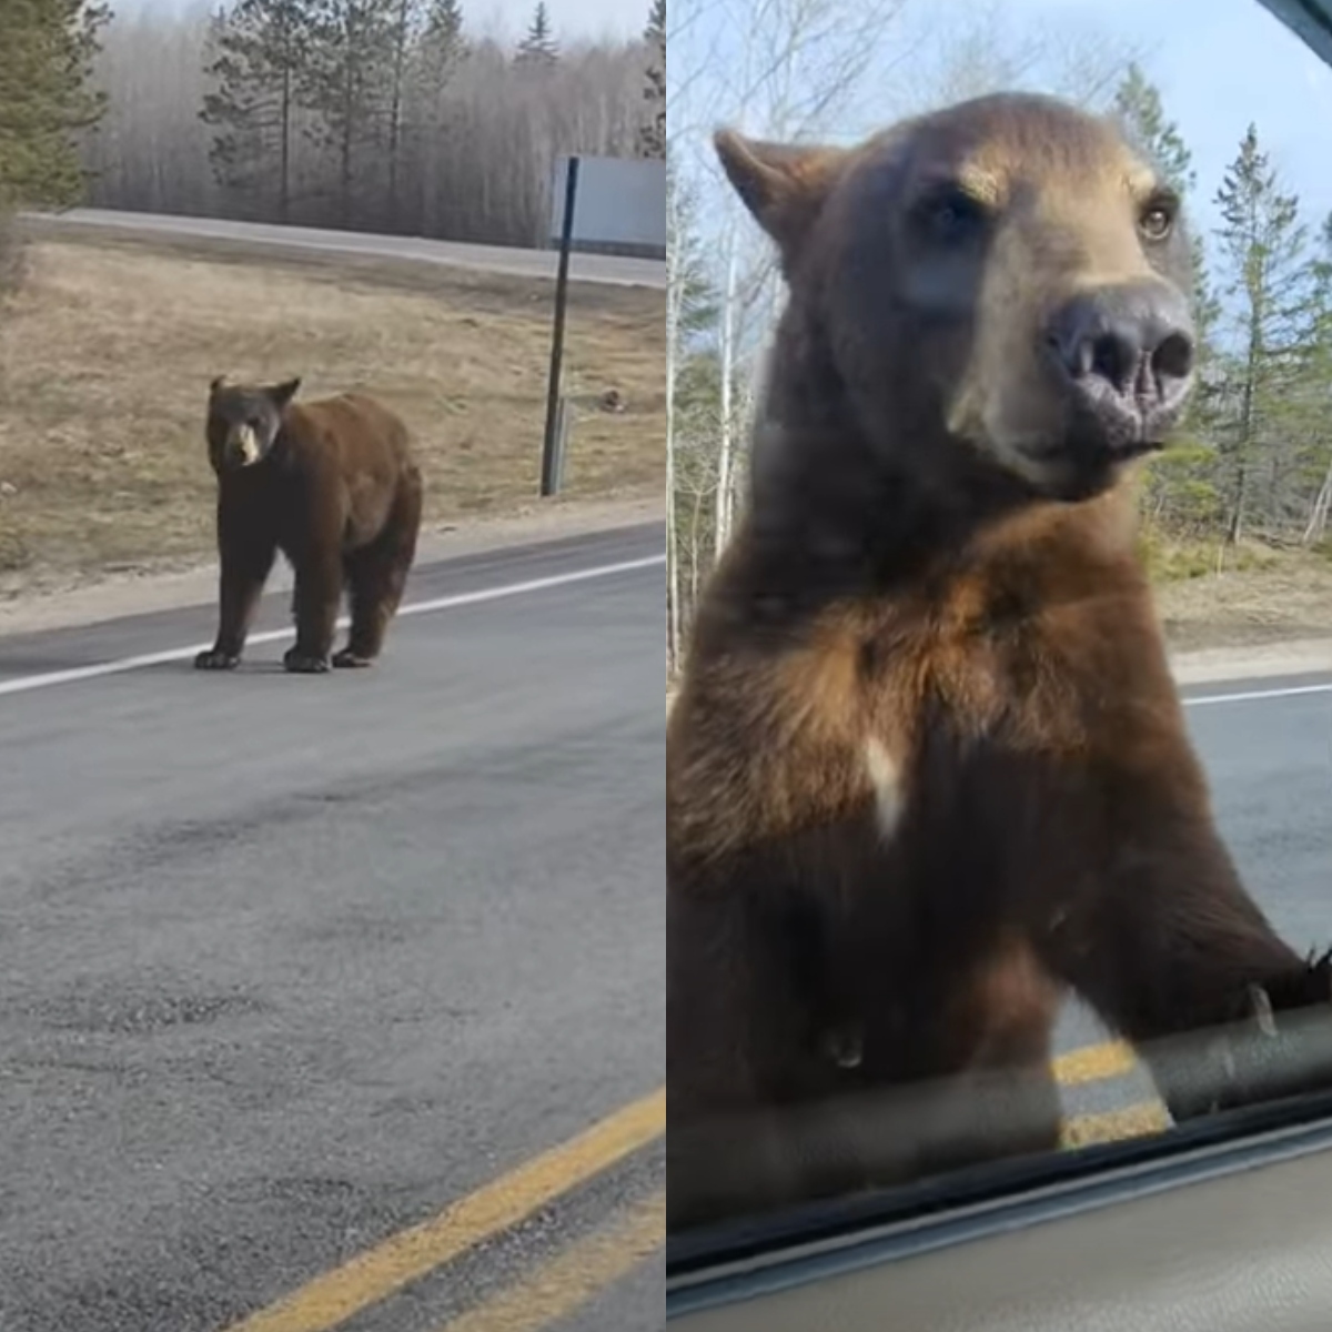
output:
M234 222L221 217L173 217L164 213L119 213L75 208L67 213L25 216L35 228L52 232L100 230L129 237L166 236L182 240L230 241L312 254L345 254L361 258L409 260L446 264L514 277L554 278L559 254L554 249L518 249L509 245L466 245L420 236L376 236L369 232L338 232L314 226L278 226L269 222ZM615 254L574 253L569 277L575 282L610 286L666 286L662 260L627 258Z

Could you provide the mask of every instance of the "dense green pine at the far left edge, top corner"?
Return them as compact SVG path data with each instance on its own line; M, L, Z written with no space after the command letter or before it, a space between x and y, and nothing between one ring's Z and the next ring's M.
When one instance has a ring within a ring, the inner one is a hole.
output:
M0 206L83 196L77 135L105 111L89 73L109 19L89 0L0 0Z

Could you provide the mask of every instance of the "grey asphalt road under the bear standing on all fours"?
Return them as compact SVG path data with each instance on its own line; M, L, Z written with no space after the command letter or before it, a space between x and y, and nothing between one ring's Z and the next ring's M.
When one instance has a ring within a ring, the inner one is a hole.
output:
M0 639L4 1332L216 1332L659 1087L662 549L418 569L365 673L277 669L285 595L234 674L181 659L212 607ZM452 1327L663 1175L349 1327ZM559 1327L662 1297L639 1261Z

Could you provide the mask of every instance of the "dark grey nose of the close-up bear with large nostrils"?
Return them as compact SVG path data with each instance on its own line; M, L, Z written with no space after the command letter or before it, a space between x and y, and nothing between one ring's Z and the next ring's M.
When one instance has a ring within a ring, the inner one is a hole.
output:
M1193 372L1193 325L1184 297L1164 282L1083 292L1046 329L1055 362L1075 389L1108 386L1143 409L1171 406Z

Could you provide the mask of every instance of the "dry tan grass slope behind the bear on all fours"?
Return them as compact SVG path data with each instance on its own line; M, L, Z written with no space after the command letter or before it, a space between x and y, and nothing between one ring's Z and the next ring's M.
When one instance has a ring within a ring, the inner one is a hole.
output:
M304 377L402 413L428 522L530 502L551 284L120 241L39 241L0 326L0 591L213 549L208 381ZM570 288L570 500L658 496L665 294ZM623 413L597 400L619 390Z

